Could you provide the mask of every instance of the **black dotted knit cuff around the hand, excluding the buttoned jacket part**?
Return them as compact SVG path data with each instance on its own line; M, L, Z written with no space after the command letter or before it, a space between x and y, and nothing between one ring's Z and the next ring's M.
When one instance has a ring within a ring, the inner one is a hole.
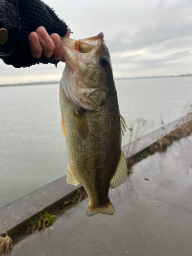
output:
M15 51L10 56L3 57L6 64L15 68L30 67L36 63L58 63L54 57L42 56L36 60L31 54L28 36L39 26L45 27L48 34L67 34L67 25L60 20L55 12L40 0L17 0L19 13L19 32Z

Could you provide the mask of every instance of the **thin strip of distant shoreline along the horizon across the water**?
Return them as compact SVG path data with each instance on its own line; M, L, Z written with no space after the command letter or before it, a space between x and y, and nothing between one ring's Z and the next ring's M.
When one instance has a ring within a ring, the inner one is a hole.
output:
M147 78L172 78L172 77L189 77L189 76L192 76L192 74L179 75L179 76L121 77L121 78L115 78L115 80L147 79ZM37 82L6 83L6 84L0 84L0 87L6 87L6 86L35 86L35 85L39 85L39 84L53 84L53 83L59 83L59 80L58 81L37 81Z

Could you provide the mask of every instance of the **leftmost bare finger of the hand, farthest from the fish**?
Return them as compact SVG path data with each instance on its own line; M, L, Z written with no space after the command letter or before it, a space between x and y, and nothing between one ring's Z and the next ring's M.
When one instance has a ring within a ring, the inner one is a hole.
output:
M31 32L28 37L29 44L31 46L31 54L35 59L39 59L42 56L42 46L39 42L39 38L36 32Z

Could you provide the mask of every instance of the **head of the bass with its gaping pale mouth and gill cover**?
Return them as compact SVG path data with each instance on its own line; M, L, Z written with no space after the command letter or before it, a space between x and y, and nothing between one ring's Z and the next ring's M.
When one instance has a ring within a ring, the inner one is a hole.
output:
M109 49L103 33L86 39L63 38L66 68L62 88L83 109L99 110L114 89Z

